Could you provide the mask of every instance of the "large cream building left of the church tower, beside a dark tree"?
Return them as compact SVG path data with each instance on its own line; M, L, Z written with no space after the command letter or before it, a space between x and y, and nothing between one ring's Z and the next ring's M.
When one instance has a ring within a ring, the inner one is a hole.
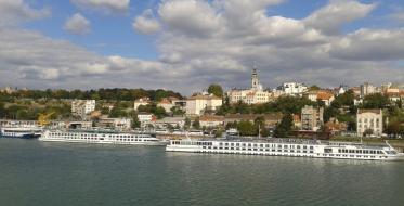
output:
M185 114L199 116L206 111L216 111L222 106L222 99L213 94L195 94L186 100Z

